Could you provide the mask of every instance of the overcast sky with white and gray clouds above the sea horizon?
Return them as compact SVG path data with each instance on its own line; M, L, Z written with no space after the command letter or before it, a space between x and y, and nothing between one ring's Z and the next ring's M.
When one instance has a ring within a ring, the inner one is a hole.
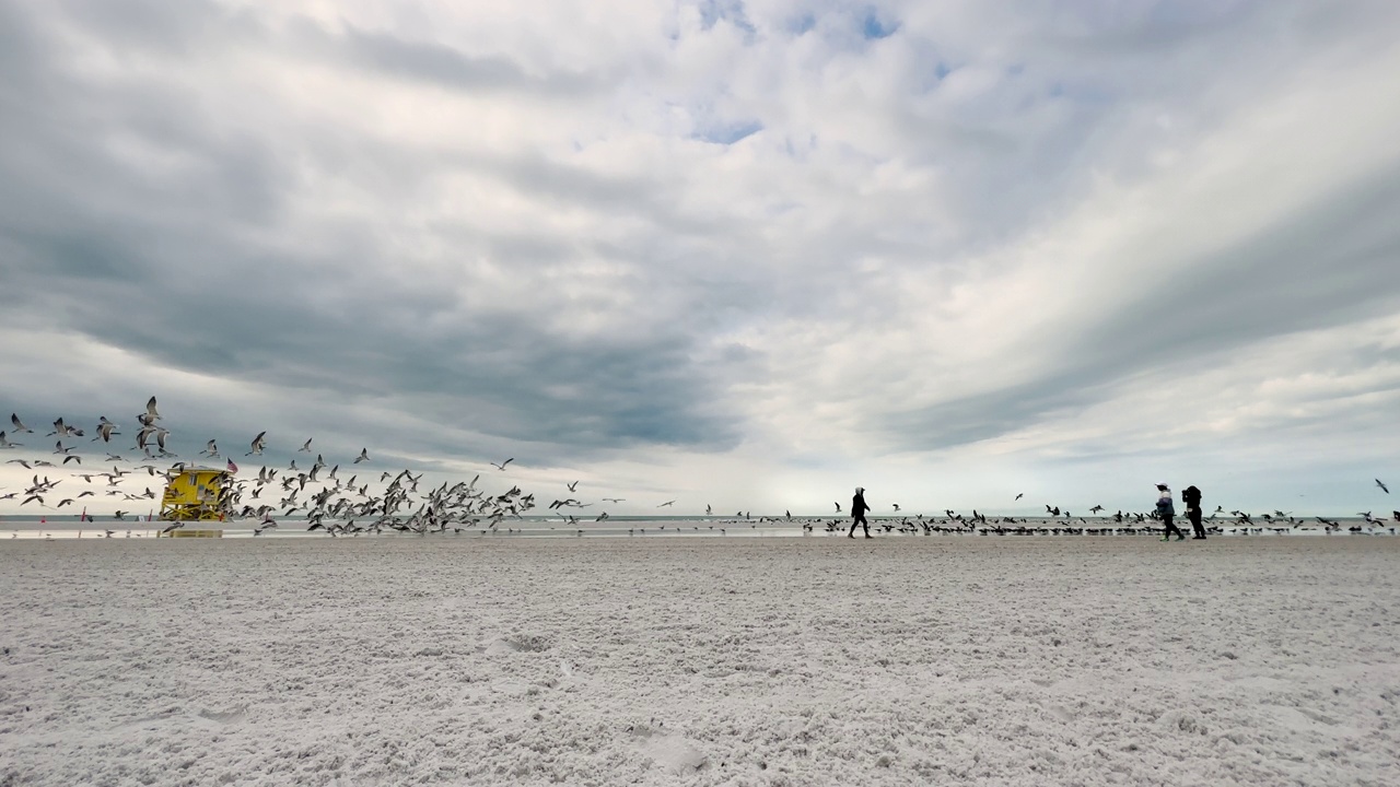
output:
M157 395L183 458L617 513L1387 514L1397 42L1392 0L0 0L0 457Z

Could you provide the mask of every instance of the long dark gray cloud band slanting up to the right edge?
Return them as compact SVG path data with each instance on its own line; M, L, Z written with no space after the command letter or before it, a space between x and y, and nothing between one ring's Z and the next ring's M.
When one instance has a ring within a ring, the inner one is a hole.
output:
M1117 382L1163 364L1215 365L1273 336L1324 329L1400 308L1400 169L1326 195L1277 227L1176 279L1085 302L1086 316L1054 370L1035 379L890 413L906 445L958 447L1001 437L1114 395ZM1317 272L1324 270L1324 279ZM1372 358L1372 361L1380 358ZM1190 417L1190 405L1183 403Z

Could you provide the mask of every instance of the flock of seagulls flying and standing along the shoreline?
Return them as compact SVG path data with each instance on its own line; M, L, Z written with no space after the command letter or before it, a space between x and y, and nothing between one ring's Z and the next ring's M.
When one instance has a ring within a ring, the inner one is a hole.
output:
M17 464L36 472L32 482L24 490L0 490L0 501L18 499L21 500L21 507L36 504L38 508L59 510L69 506L77 507L85 499L97 497L101 492L105 497L116 497L122 506L127 503L154 504L154 501L160 500L160 496L151 486L144 486L143 490L134 492L133 487L139 486L139 483L133 485L130 482L141 479L144 475L147 479L157 479L155 483L168 483L192 465L174 462L162 468L154 464L162 459L178 459L178 454L169 450L168 440L171 430L162 424L164 419L155 396L151 396L146 402L146 409L136 415L134 422L134 445L132 450L140 451L140 457L136 461L144 459L147 464L132 466L132 461L127 461L120 454L106 451L102 464L111 464L111 471L81 471L83 454L78 452L81 443L77 440L85 437L85 433L83 429L74 427L63 417L59 417L53 422L53 431L49 431L46 437L55 438L53 457L62 457L62 459L8 459L7 464ZM18 413L10 415L10 430L0 431L0 450L22 448L24 444L17 443L14 438L21 434L38 434L24 424ZM118 423L108 420L106 416L101 416L92 430L94 437L90 443L101 441L104 448L109 448L112 438L122 434L119 429ZM312 438L305 440L295 454L312 454L311 445ZM242 457L263 457L267 448L267 433L259 431L248 443L248 451ZM217 440L210 438L204 443L204 448L199 451L199 455L204 459L220 458ZM512 534L517 532L512 524L522 520L528 511L535 508L535 496L526 494L517 485L511 485L510 489L501 493L489 493L484 489L479 489L480 473L470 482L455 485L444 482L441 486L420 490L419 483L423 479L423 473L414 475L409 469L396 473L385 471L379 472L377 479L372 478L372 473L370 478L361 479L358 473L350 469L350 478L342 478L340 465L328 464L322 454L316 454L315 459L304 468L297 466L297 458L293 458L287 466L262 465L256 475L251 478L241 478L234 461L231 458L225 459L225 475L214 503L217 510L228 518L255 521L253 535L262 535L279 528L279 517L284 521L288 517L300 517L297 522L298 525L305 525L307 531L321 531L332 536L382 532L441 534L448 531L454 534L466 531L486 534L498 532L503 524L507 524L505 532ZM368 450L361 448L360 454L350 459L347 465L349 468L354 468L370 461ZM514 461L512 457L503 462L490 462L490 465L498 472L505 472L507 466ZM71 478L81 479L87 485L87 489L77 492L71 497L66 497L57 490L66 479L50 480L48 475L41 478L41 473L46 472L48 468L63 468L70 462L76 465L70 468L70 472L78 471L71 472ZM123 468L122 465L127 466ZM105 483L98 483L98 479L104 479ZM1382 492L1386 494L1390 493L1390 489L1380 479L1375 479L1375 482ZM97 485L97 489L94 489L94 485ZM556 499L547 508L564 525L575 528L577 535L584 535L585 529L580 525L587 524L589 520L592 522L603 522L609 520L609 514L602 511L596 515L585 515L584 510L592 507L594 503L574 497L578 485L580 482L577 480L566 483L564 487L568 490L568 496ZM371 490L371 487L375 489ZM1023 494L1016 494L1015 500L1021 500ZM53 501L52 506L50 500ZM601 500L603 503L624 501L620 497L603 497ZM666 500L655 507L671 508L675 503L676 500ZM841 504L836 503L834 506L836 514L841 514ZM892 504L892 508L896 515L878 517L872 522L876 531L924 535L1138 535L1156 534L1159 531L1159 525L1154 521L1155 514L1124 514L1123 511L1117 511L1116 514L1100 517L1099 514L1105 511L1102 506L1089 508L1089 514L1096 517L1096 521L1092 522L1082 517L1075 518L1074 514L1068 510L1061 510L1058 506L1046 506L1046 515L1039 518L1040 521L1037 522L1014 517L988 518L976 510L972 515L948 510L942 518L924 517L923 514L910 518L909 515L900 515L902 508L899 504ZM118 508L112 514L112 518L126 521L126 517L130 514L132 511ZM1260 514L1257 517L1245 511L1229 511L1229 520L1222 518L1224 514L1225 511L1219 507L1211 514L1208 532L1256 535L1322 529L1333 534L1340 532L1343 528L1343 524L1336 520L1323 517L1299 518L1285 511L1274 511L1273 514ZM85 521L95 521L92 515L87 514L85 508L83 508L81 515ZM706 506L706 515L714 515L711 506ZM1365 521L1365 525L1350 525L1347 528L1350 532L1373 534L1379 529L1379 532L1400 534L1400 528L1390 525L1386 520L1372 517L1371 511L1358 513L1358 517ZM1393 511L1392 517L1394 522L1400 524L1400 511ZM738 511L735 522L739 520L750 528L757 528L764 522L798 524L804 532L815 532L819 527L826 532L839 532L850 524L848 520L843 518L827 521L822 518L792 517L791 511L785 511L783 517L760 517L757 520L753 520L749 513ZM287 524L288 527L291 525L291 522ZM179 521L169 522L161 532L169 534L183 525L185 522ZM666 531L666 525L661 525L657 529ZM693 525L690 529L699 531L700 527ZM715 528L710 525L708 529L713 531ZM718 529L721 534L728 532L724 527ZM647 531L645 528L631 528L629 532L636 535L637 532L645 534ZM672 532L683 532L683 527L672 525ZM111 536L112 531L106 531L106 535Z

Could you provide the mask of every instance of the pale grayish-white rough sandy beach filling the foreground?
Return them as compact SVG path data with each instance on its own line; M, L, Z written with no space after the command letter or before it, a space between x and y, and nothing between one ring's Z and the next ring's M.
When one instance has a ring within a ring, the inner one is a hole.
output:
M0 543L0 784L1400 784L1400 541Z

